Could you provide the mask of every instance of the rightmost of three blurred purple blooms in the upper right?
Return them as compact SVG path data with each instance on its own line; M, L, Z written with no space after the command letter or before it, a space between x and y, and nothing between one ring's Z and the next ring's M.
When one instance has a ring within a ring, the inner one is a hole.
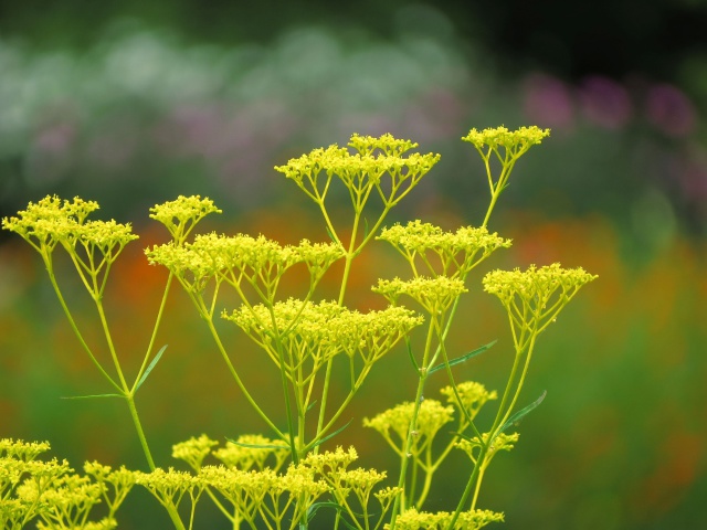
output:
M652 86L646 95L648 120L668 136L683 137L695 129L695 107L675 86Z

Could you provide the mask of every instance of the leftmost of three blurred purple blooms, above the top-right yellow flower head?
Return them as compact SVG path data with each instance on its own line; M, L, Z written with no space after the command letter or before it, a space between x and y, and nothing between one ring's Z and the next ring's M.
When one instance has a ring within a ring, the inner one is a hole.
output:
M572 95L560 80L531 74L525 83L524 110L540 127L570 128L574 120Z

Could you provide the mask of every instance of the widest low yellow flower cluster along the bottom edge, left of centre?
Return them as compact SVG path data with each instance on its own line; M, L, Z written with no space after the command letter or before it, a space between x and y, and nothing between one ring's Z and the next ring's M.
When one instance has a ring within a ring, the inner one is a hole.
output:
M212 442L202 435L178 446L182 455L188 447L194 448L200 455L207 446L212 447ZM298 465L291 464L285 473L278 474L276 469L264 466L270 454L283 453L283 449L272 446L272 441L262 436L241 436L238 442L263 446L249 447L230 443L224 449L212 451L225 466L207 465L197 475L157 469L150 474L137 474L138 483L150 489L160 501L172 501L175 506L179 505L184 491L192 491L194 502L199 488L209 487L232 505L230 512L233 516L229 517L234 524L245 521L253 526L260 516L272 523L270 528L281 528L285 517L293 521L305 517L307 510L325 494L331 494L351 519L359 518L363 521L370 517L368 504L374 496L382 507L382 519L399 492L398 488L373 491L386 478L384 473L348 469L358 458L354 447L347 451L337 447L335 452L309 454ZM250 458L247 453L252 454ZM278 458L277 466L282 462L284 459ZM257 469L250 469L251 467ZM350 504L351 496L357 505ZM287 507L294 508L294 511L288 511ZM228 512L229 510L224 511Z

